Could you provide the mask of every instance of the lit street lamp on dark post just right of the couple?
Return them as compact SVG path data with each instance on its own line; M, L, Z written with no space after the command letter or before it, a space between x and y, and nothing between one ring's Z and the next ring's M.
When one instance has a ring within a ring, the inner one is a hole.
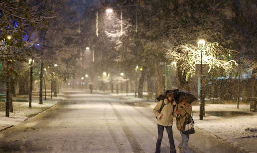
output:
M201 50L201 67L200 67L200 120L203 120L204 115L204 95L203 95L203 49L205 47L205 40L200 39L197 42L198 48Z

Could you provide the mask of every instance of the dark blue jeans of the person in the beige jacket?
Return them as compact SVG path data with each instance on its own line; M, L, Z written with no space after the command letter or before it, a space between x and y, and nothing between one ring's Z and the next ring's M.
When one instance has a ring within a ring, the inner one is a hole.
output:
M162 137L163 137L164 126L157 125L157 127L158 127L158 139L156 142L155 153L160 153L160 146L161 146L161 141L162 141ZM170 153L176 153L175 143L174 143L173 134L172 134L172 126L165 127L165 128L168 133Z

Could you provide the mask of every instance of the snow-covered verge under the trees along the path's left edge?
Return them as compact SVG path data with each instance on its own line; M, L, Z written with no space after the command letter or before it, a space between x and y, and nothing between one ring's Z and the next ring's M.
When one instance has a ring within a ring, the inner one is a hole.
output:
M59 94L57 98L47 98L47 101L43 101L43 105L39 104L39 100L37 97L32 98L32 108L28 108L28 102L15 102L15 99L27 100L27 96L20 96L19 98L14 98L12 102L13 113L9 113L9 118L5 117L5 102L0 102L0 131L7 127L18 125L19 123L22 123L24 120L44 111L47 108L50 108L51 106L56 104L60 99L64 99L63 96L63 94Z

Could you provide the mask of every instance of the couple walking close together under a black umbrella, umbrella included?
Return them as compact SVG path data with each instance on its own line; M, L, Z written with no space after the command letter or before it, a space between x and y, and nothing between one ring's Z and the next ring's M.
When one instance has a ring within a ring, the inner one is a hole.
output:
M181 89L166 90L156 98L159 102L153 109L153 113L157 118L158 139L156 142L155 153L160 153L163 130L166 128L170 153L176 153L176 148L173 140L173 117L176 117L177 129L181 134L181 144L178 145L180 153L192 153L188 147L189 135L194 133L193 119L191 117L191 103L196 100L195 96L188 91ZM189 125L190 128L188 128ZM191 132L189 132L189 129Z

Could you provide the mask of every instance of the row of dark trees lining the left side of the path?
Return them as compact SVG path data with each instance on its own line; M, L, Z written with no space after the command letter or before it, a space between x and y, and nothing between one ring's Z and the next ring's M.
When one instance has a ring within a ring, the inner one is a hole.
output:
M52 97L57 82L73 74L76 65L69 62L74 60L71 50L75 44L70 40L74 29L65 24L74 21L67 17L72 13L68 2L0 0L0 82L6 82L5 88L1 86L1 92L6 91L6 117L13 111L11 96L29 95L31 107L33 78L39 80L39 104L43 104L43 84L51 82ZM63 31L66 33L60 35Z

